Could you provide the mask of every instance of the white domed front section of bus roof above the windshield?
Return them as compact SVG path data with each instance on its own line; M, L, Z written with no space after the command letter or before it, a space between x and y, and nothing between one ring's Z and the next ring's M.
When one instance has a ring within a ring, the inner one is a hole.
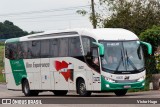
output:
M122 28L86 29L81 35L91 36L97 40L139 40L139 38L133 32Z

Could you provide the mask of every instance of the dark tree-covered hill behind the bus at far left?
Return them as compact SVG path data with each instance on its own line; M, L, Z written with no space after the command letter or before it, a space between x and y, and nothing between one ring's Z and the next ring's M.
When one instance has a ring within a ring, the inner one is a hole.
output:
M0 39L16 38L27 34L28 32L23 31L21 28L8 20L3 23L0 22Z

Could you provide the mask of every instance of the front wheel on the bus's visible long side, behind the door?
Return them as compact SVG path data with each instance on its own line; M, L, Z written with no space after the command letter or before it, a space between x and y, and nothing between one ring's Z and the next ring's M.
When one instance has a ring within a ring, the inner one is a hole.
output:
M78 80L77 92L80 96L90 96L91 92L86 90L86 85L83 79Z

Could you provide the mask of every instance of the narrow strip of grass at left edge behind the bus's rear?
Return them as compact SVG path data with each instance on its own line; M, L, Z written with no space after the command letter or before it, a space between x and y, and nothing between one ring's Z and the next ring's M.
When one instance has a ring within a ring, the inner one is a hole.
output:
M4 69L4 45L0 45L0 82L5 82L5 78L3 77L2 70Z

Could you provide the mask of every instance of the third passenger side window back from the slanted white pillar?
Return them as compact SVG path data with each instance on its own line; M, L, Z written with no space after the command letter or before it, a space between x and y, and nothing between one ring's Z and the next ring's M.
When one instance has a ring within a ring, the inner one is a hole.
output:
M58 56L58 39L50 40L50 56L57 57Z

